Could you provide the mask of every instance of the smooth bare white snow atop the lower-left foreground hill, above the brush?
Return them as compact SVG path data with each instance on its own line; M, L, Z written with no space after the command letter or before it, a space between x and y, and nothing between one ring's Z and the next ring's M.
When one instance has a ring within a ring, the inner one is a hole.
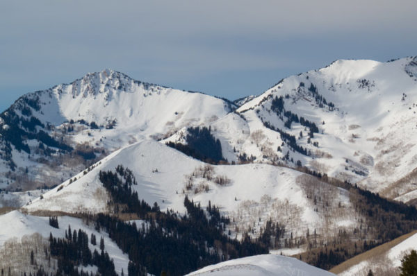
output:
M97 239L100 239L101 236L103 236L105 250L114 261L115 271L119 274L122 273L122 270L127 271L129 257L117 247L117 245L108 237L106 232L97 232L93 225L85 225L80 218L72 218L70 216L59 216L58 224L59 229L56 229L49 225L48 217L26 215L19 211L3 214L0 216L0 248L10 239L21 239L25 235L34 233L41 234L45 239L49 239L50 233L55 237L64 238L65 230L67 230L68 225L70 225L72 230L82 229L89 237L91 234L95 234ZM100 251L99 245L92 245L89 243L88 246L92 251L95 249Z

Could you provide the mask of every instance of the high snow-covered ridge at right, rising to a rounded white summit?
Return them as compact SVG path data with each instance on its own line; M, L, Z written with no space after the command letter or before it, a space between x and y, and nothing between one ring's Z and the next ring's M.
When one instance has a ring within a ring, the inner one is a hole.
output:
M413 117L417 103L417 80L410 78L405 69L409 66L414 68L415 63L415 57L392 62L336 60L325 68L281 80L236 110L249 122L251 133L263 132L265 138L261 139L261 144L265 146L251 150L256 160L279 160L288 164L287 158L281 159L288 150L290 159L294 159L290 162L292 166L299 159L311 169L361 184L372 191L382 191L386 188L382 183L395 182L395 175L404 176L403 172L391 173L389 179L380 175L383 170L379 168L389 166L389 160L384 155L393 151L389 148L395 144L387 142L387 139L392 139L394 130L404 133L400 147L394 149L395 158L403 155L406 144L413 148L409 155L416 155L414 144L409 143L407 137L415 131ZM279 132L283 143L272 138L268 132ZM299 137L300 133L302 137ZM363 146L358 145L359 141ZM229 141L229 144L231 148L240 148L240 143L236 141ZM265 148L270 149L263 153ZM275 148L281 148L281 153ZM354 152L349 153L350 148L354 148ZM242 150L247 151L245 148ZM334 166L330 157L338 152L341 153L338 157L340 169ZM403 164L412 164L414 157L409 155L404 157L407 159ZM347 162L350 164L346 166ZM414 167L410 165L402 165L402 171L413 171ZM410 188L404 189L407 191ZM404 191L397 192L401 194ZM386 196L397 197L393 193Z

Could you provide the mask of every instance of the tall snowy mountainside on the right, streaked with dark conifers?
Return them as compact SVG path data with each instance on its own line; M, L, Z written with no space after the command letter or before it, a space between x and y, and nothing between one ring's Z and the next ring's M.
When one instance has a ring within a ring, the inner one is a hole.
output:
M229 161L238 162L243 153L255 162L297 166L300 161L407 202L415 198L417 182L416 64L417 57L337 60L281 80L240 106L240 117L227 114L207 126L222 141ZM318 131L309 137L312 123ZM279 131L293 136L299 148Z

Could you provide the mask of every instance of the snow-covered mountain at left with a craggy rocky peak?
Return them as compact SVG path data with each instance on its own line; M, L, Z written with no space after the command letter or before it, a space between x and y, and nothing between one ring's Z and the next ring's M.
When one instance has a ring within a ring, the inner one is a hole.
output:
M59 184L117 148L215 121L233 108L112 70L26 94L0 114L0 188Z

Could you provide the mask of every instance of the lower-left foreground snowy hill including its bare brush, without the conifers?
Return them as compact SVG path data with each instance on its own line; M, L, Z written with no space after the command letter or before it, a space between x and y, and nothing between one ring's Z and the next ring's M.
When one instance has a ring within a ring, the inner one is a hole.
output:
M0 216L0 267L12 268L13 275L19 275L20 272L25 271L27 273L33 273L33 268L28 266L28 258L30 257L30 251L28 248L35 249L37 246L39 250L35 251L35 259L38 264L41 265L44 260L44 246L49 245L49 235L52 234L56 238L63 239L67 234L67 230L71 227L72 230L83 230L91 236L94 234L100 239L103 237L104 244L106 246L106 252L113 259L115 264L115 271L119 275L122 270L127 271L129 264L129 257L117 244L109 237L106 232L99 232L93 225L88 225L81 218L74 218L70 216L60 216L59 228L51 227L49 225L48 217L31 216L22 214L19 211L8 212ZM99 244L89 244L90 250L99 251ZM52 259L54 272L56 264L54 265L54 259ZM47 268L47 265L44 264ZM97 267L83 268L85 271L97 272Z

